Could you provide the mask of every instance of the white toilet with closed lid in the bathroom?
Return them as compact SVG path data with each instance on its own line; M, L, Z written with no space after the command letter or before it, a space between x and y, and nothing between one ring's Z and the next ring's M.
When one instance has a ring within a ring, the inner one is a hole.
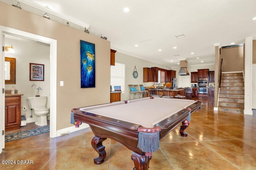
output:
M50 108L46 107L47 97L28 97L29 109L34 109L35 115L37 115L37 121L35 122L38 126L47 125L47 115L50 112Z

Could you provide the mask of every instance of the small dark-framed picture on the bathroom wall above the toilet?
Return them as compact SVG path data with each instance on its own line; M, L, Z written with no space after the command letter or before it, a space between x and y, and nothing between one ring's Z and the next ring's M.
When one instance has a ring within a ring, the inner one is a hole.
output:
M29 63L29 80L44 81L44 64Z

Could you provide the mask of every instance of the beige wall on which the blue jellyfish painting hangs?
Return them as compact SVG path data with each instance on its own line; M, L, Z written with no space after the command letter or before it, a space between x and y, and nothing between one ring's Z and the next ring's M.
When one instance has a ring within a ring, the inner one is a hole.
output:
M2 2L0 16L2 26L57 40L57 130L72 126L72 108L110 102L109 41ZM80 40L95 44L96 88L80 88Z

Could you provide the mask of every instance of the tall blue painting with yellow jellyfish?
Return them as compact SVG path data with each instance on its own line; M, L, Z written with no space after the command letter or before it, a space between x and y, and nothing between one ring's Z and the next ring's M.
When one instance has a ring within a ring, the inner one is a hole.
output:
M80 40L81 88L95 87L95 44Z

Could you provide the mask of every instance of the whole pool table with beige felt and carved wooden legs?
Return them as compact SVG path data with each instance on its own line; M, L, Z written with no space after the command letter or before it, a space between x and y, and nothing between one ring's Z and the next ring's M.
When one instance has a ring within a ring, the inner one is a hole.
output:
M147 170L152 152L159 148L159 140L180 123L181 136L190 123L190 114L201 108L201 101L146 97L90 107L72 109L72 119L87 123L94 137L92 147L99 156L95 164L106 158L102 142L114 139L132 151L134 170Z

